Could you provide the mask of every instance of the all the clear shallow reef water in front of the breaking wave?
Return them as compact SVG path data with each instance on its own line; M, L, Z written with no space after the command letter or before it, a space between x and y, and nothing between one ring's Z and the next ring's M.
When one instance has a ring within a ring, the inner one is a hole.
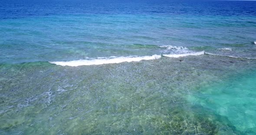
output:
M1 65L1 134L253 135L255 66L244 65L255 64L200 55Z

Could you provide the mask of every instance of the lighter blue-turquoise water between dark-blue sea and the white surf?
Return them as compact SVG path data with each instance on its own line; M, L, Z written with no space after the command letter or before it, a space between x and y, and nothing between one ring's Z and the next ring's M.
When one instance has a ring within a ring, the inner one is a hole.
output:
M255 16L52 15L0 23L2 63L170 53L161 45L256 58Z

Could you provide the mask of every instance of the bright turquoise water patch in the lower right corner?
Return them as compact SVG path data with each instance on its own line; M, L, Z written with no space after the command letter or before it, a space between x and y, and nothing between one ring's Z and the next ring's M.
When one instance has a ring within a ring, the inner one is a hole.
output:
M188 100L226 117L243 134L255 135L255 82L256 71L245 71L201 87L197 93L190 95Z

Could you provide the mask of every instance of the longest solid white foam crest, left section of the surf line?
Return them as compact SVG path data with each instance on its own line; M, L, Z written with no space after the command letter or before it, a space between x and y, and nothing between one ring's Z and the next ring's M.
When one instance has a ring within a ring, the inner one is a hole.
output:
M49 63L61 65L61 66L82 66L82 65L100 65L100 64L114 64L121 62L131 62L131 61L141 61L141 60L154 60L161 58L161 55L152 56L141 56L141 57L108 57L108 58L98 58L92 60L75 60L75 61L49 61Z

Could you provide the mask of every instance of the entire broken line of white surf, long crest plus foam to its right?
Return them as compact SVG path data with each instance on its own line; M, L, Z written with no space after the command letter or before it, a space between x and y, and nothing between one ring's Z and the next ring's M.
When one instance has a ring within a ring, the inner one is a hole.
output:
M98 57L94 59L84 59L84 60L74 60L74 61L49 61L51 64L61 65L61 66L88 66L88 65L101 65L101 64L115 64L121 62L132 62L132 61L142 61L142 60L154 60L159 59L161 56L170 57L170 58L179 58L179 57L186 57L186 56L198 56L198 55L216 55L216 56L223 56L223 57L230 57L230 58L246 58L246 59L256 59L256 58L247 58L247 57L238 57L238 56L230 56L230 55L218 55L212 54L205 51L192 51L183 46L172 46L172 45L164 45L159 46L160 48L165 48L165 50L160 51L163 53L162 55L152 55L152 56L127 56L127 57ZM233 48L219 48L217 50L221 51L232 51Z

